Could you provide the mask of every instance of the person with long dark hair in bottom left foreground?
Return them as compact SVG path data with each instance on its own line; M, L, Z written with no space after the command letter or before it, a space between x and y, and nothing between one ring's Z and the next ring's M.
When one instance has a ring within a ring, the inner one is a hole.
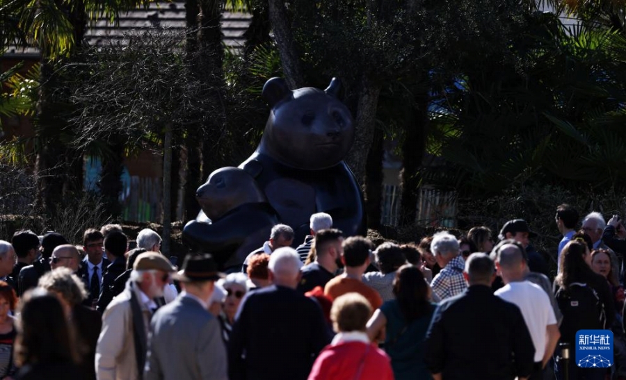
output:
M24 294L20 308L15 380L83 380L70 322L58 298L35 289Z

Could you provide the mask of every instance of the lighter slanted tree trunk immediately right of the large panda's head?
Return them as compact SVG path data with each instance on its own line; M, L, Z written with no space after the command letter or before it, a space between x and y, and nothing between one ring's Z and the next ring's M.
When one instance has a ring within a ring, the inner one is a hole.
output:
M360 92L358 94L355 117L355 138L352 149L350 149L346 158L346 163L351 167L359 183L363 183L367 155L374 140L380 85L372 83L369 79L362 79L359 88Z

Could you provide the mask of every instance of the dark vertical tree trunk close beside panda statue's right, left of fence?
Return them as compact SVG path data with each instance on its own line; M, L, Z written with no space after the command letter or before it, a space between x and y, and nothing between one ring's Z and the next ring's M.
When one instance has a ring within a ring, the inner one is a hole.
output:
M382 129L376 128L365 166L365 211L367 213L367 226L371 229L380 229L381 226L384 141L385 133Z

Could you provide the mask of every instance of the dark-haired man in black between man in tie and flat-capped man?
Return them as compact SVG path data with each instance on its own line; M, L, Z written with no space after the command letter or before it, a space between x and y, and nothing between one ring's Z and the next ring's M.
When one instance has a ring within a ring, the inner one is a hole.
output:
M126 248L128 238L123 232L113 230L104 236L104 250L106 257L109 258L111 264L106 267L102 275L102 286L100 287L100 295L96 310L104 313L106 306L109 306L111 299L115 297L113 294L113 283L115 279L126 270Z

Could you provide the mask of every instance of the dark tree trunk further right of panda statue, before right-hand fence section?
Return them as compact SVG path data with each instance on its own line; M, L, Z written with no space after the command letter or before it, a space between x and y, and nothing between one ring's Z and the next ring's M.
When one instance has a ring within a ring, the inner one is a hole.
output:
M422 181L419 167L422 165L426 151L426 128L428 126L428 92L415 97L415 106L405 125L404 142L402 144L403 169L402 195L400 203L399 224L408 226L415 222L417 213L418 187Z

